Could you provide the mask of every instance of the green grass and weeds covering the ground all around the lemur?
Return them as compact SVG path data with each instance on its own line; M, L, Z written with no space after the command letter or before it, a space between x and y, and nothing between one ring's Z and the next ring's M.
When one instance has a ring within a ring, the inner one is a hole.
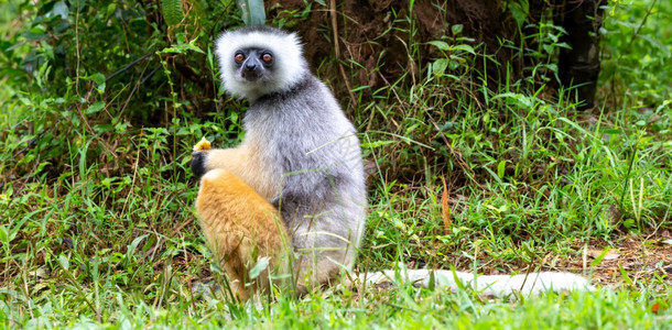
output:
M423 73L415 84L402 77L372 91L371 102L348 109L362 132L365 156L377 166L369 178L358 271L402 262L483 273L570 268L590 276L597 271L586 246L618 248L625 235L644 240L672 229L672 4L614 4L603 41L600 107L592 113L576 112L571 101L529 79L483 88L480 73L495 64L477 45L474 56L452 53L464 58L457 68ZM6 14L0 22L15 21ZM19 29L12 26L0 30L4 38ZM410 45L409 53L418 54L419 45ZM18 68L25 47L0 54L1 63ZM186 54L178 47L171 52ZM326 290L302 299L279 295L259 306L232 302L221 293L203 295L193 286L221 285L223 274L210 264L192 207L191 145L203 135L218 145L235 144L238 112L193 119L183 110L191 101L153 100L148 92L142 97L150 105L178 111L166 111L163 125L133 127L128 118L136 114L115 112L129 90L115 81L107 87L115 92L93 92L86 106L63 111L73 92L42 92L48 69L43 66L30 81L11 70L0 77L0 326L663 329L672 323L672 280L664 265L644 277L615 268L618 279L596 283L595 293L511 299L408 285ZM552 74L544 65L525 72L532 80ZM91 107L99 99L107 108ZM451 212L444 219L446 206Z

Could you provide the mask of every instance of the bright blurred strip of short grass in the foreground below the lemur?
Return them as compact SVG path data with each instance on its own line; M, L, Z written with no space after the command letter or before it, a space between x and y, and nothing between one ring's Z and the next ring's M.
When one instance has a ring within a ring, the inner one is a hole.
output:
M175 285L176 286L176 285ZM187 292L174 292L174 299L160 306L112 289L99 301L100 319L89 307L67 304L77 296L65 293L40 304L30 311L8 315L25 326L69 326L107 328L202 327L202 328L443 328L455 329L603 329L664 328L670 315L655 315L655 304L629 293L600 290L567 296L549 294L518 302L483 301L465 294L418 293L392 290L366 297L311 296L296 301L280 299L262 310L232 307L216 298L192 297ZM10 309L7 305L3 310Z

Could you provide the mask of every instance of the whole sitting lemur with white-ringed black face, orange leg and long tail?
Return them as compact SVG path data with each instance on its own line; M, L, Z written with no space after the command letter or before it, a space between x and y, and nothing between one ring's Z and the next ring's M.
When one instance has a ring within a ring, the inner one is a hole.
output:
M219 261L230 257L227 251L238 241L221 228L238 223L257 234L250 239L268 246L263 253L269 255L282 249L275 242L286 230L297 294L332 285L342 273L372 283L392 276L392 271L350 273L367 217L359 140L333 94L308 70L296 34L241 28L221 34L215 53L224 88L250 103L240 145L193 153L192 170L203 176L196 211ZM269 224L271 216L282 220L281 228ZM234 278L239 275L232 272L245 271L225 270ZM413 270L401 275L427 286L430 274L436 285L456 288L459 279L485 294L590 288L570 273L475 278L472 273Z

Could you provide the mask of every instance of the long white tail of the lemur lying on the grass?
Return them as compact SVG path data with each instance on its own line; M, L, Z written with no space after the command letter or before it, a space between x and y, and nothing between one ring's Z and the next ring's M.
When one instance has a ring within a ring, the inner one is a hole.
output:
M432 279L433 276L433 279ZM378 285L401 280L419 287L472 288L479 295L505 296L511 293L534 294L541 292L594 290L590 282L572 273L541 272L518 275L479 275L447 270L398 270L360 274L355 282Z

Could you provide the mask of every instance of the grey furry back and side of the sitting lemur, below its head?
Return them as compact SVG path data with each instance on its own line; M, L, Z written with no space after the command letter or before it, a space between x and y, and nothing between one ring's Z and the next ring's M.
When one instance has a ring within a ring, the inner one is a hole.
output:
M351 266L366 218L364 166L355 129L328 89L306 76L289 92L257 100L243 124L246 141L264 141L260 153L280 170L271 201L302 263L333 275L339 264Z

